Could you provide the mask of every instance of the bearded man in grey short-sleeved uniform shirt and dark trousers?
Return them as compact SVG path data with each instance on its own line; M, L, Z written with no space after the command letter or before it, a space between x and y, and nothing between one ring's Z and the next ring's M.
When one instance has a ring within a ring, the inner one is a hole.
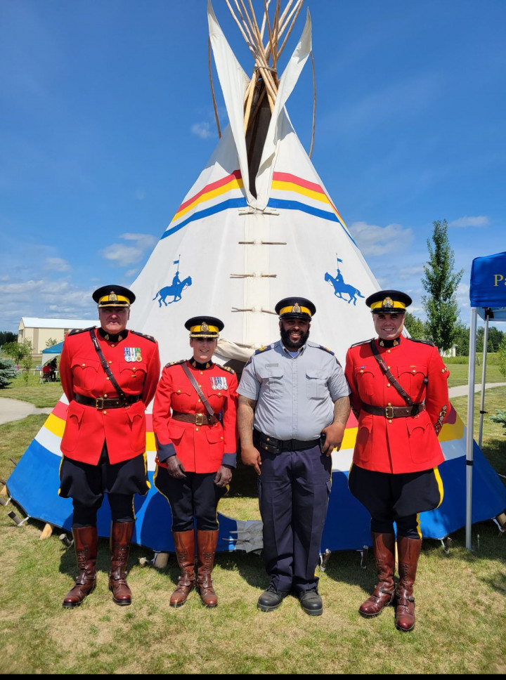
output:
M327 516L332 450L349 417L349 386L329 349L308 341L316 307L305 298L275 306L281 340L249 358L238 387L241 458L259 478L264 563L271 584L258 608L293 593L323 613L316 565Z

